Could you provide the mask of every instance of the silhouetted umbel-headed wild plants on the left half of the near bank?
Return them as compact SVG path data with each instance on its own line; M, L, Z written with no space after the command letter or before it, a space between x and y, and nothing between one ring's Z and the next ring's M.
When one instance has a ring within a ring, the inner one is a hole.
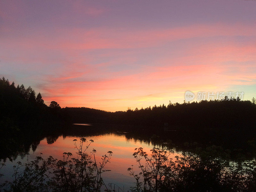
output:
M112 152L101 157L96 162L93 149L88 148L93 140L87 141L81 138L79 144L74 140L77 149L76 157L72 153L63 153L63 159L54 159L49 156L44 159L37 156L33 161L14 165L13 181L0 185L0 191L38 191L38 192L89 192L100 191L105 184L102 180L102 173L110 170L104 169L109 163Z

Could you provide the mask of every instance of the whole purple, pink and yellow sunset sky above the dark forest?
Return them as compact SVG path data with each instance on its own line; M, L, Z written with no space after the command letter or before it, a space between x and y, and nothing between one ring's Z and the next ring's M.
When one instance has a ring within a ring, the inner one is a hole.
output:
M0 76L61 107L140 109L183 103L186 91L251 100L255 10L249 0L1 0Z

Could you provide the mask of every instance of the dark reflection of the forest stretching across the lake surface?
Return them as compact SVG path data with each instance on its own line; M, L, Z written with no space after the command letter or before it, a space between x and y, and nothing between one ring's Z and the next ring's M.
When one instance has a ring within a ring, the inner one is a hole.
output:
M247 156L248 160L254 158L253 145L255 144L255 134L247 134L243 131L225 131L221 132L148 132L140 130L137 127L127 127L121 125L111 124L76 124L68 125L67 127L49 127L43 129L44 132L35 131L22 132L18 138L13 138L12 145L0 146L2 153L0 159L4 161L7 159L14 159L17 156L24 156L24 154L30 151L36 151L41 140L46 139L47 144L54 144L61 136L63 139L66 137L92 137L100 136L104 134L115 133L116 136L122 136L127 142L156 145L161 144L169 148L177 148L177 150L186 150L187 146L184 146L185 142L197 142L200 147L206 147L211 145L222 146L224 149L230 149L231 151L237 151L237 149L243 149L242 151ZM158 135L162 140L152 139L152 135ZM170 141L171 140L171 141ZM239 142L234 142L239 141ZM169 145L172 142L175 145Z

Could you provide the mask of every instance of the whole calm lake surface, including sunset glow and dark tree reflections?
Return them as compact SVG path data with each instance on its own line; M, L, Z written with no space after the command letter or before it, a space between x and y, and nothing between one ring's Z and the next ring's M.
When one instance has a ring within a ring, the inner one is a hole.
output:
M99 162L101 156L107 154L108 151L113 152L110 163L105 166L105 169L111 171L104 172L102 178L106 185L108 185L108 183L114 183L121 188L124 188L124 191L127 191L131 186L134 186L135 182L135 179L129 175L127 169L131 167L131 165L134 165L133 168L135 172L140 172L138 164L132 156L134 149L142 147L144 151L150 153L150 149L154 147L154 143L150 139L153 133L150 133L147 130L136 132L134 131L136 129L133 129L133 131L131 131L130 127L120 128L118 126L118 129L111 129L113 128L112 125L109 125L109 127L106 126L107 125L76 124L64 129L64 131L55 131L54 128L50 129L50 132L47 133L44 131L44 135L41 135L41 133L37 134L34 131L24 133L20 145L29 155L20 156L21 153L18 149L13 153L18 154L16 156L14 155L14 157L12 153L9 155L2 155L6 166L0 170L0 173L4 174L4 177L0 178L0 183L3 183L5 180L12 180L12 166L18 161L25 163L26 161L34 160L40 153L43 153L42 156L44 158L51 155L53 158L60 160L62 160L63 152L71 152L73 156L76 156L77 150L74 148L73 140L76 139L78 142L80 138L84 137L88 141L90 139L94 140L87 152L90 152L93 148L96 149L97 162ZM229 149L243 147L246 154L252 152L251 149L248 148L247 141L254 138L252 135L247 136L237 134L236 132L221 134L217 134L216 132L206 132L204 134L202 134L202 132L161 133L156 129L155 134L159 134L160 138L166 141L161 142L163 145L167 145L169 142L168 139L174 141L174 146L177 148L177 151L186 150L186 148L184 148L184 142L186 141L198 141L204 145L221 145L224 148ZM230 136L231 134L233 134L232 137ZM234 142L234 140L239 140L240 142ZM174 151L176 151L175 148ZM173 158L176 155L178 155L178 153L175 153L170 157ZM9 158L7 158L8 156ZM14 160L11 162L10 158ZM252 156L249 156L248 159L251 160Z

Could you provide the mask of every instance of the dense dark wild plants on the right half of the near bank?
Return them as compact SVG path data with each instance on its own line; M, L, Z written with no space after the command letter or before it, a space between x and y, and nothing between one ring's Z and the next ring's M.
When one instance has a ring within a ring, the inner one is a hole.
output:
M230 161L227 153L216 146L196 153L180 152L170 158L173 150L156 146L151 154L136 148L133 154L140 173L128 168L136 180L132 192L202 191L242 192L256 190L256 162Z

